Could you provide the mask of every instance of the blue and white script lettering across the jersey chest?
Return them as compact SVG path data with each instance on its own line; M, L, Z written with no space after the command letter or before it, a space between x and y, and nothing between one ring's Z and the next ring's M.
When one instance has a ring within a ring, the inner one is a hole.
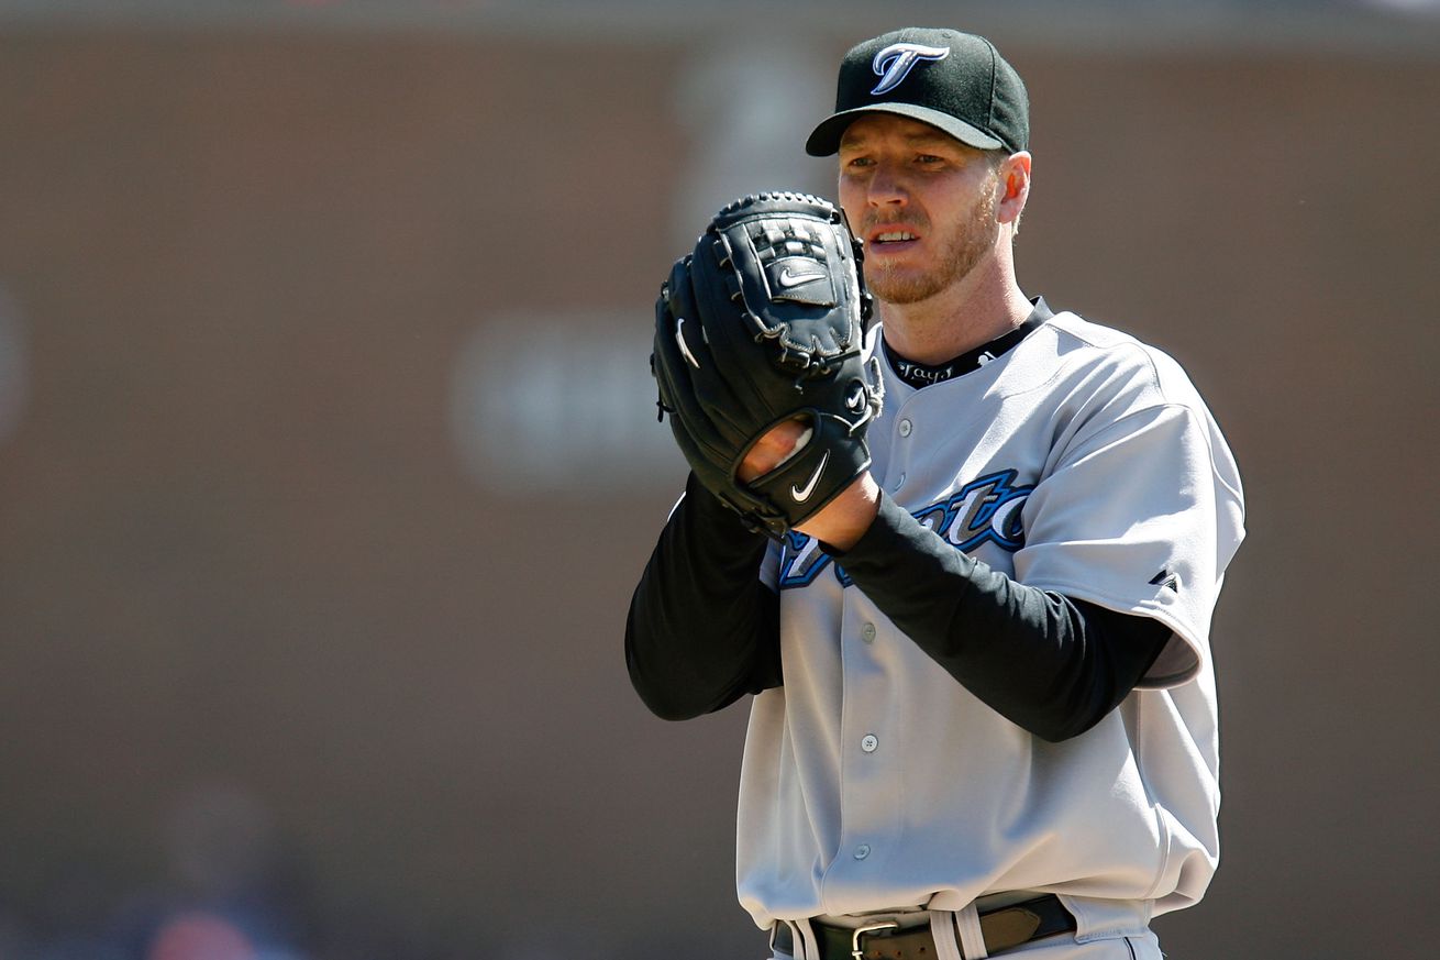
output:
M910 515L946 539L958 551L972 551L981 543L995 543L1015 552L1025 545L1021 513L1034 484L1017 486L1015 470L1001 470L973 480L939 503ZM831 556L804 533L791 532L780 546L780 590L815 582ZM845 571L835 564L835 577L850 585Z

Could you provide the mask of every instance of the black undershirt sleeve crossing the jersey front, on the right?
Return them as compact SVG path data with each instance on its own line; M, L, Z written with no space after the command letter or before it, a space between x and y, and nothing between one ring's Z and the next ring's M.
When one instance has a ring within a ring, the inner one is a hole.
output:
M854 584L965 689L1058 742L1115 709L1171 631L1149 617L1027 587L955 549L881 494L850 551Z

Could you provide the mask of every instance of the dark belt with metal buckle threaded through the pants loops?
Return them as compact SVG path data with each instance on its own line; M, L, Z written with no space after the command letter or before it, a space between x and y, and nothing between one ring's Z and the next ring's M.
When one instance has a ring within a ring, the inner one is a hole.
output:
M981 911L979 917L985 951L992 956L1031 940L1073 933L1076 928L1076 918L1054 894ZM811 928L819 941L821 960L923 960L940 956L935 948L930 924L899 930L894 921L857 928L811 921ZM775 947L795 956L795 940L785 921L778 921L775 928Z

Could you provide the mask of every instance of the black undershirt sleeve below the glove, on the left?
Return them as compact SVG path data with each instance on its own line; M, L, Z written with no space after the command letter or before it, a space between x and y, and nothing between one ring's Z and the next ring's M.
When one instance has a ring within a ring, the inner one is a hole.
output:
M768 543L690 477L625 623L631 683L657 716L690 719L780 685L779 597L759 577Z

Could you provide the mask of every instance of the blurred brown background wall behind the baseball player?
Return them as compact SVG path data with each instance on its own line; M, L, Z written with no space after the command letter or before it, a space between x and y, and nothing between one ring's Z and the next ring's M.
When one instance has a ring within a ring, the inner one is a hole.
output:
M651 303L733 195L832 193L834 65L910 22L1027 79L1030 293L1241 464L1162 944L1433 953L1433 6L120 7L0 4L0 957L763 956L744 709L621 654Z

